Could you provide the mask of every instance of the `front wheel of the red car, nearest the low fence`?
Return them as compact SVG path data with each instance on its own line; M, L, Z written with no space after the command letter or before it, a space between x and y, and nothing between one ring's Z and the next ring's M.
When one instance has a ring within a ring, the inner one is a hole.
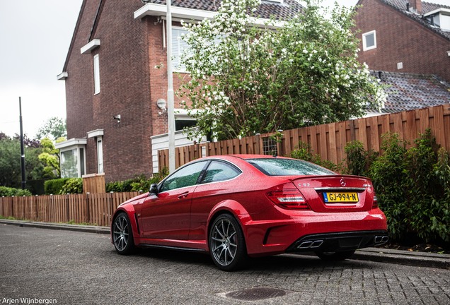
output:
M134 252L133 232L127 213L119 213L113 223L113 244L115 251L121 255Z

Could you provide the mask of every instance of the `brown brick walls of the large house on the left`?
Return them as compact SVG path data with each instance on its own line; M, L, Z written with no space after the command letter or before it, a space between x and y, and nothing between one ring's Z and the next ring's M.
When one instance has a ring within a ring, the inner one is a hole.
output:
M151 136L168 131L167 113L156 106L167 100L167 56L163 25L156 17L134 19L139 0L103 1L91 37L100 47L80 54L88 43L100 1L86 1L69 54L66 80L68 138L86 138L103 128L103 167L106 181L152 174ZM179 25L179 23L174 23ZM100 93L93 94L93 56L99 55ZM161 68L155 68L161 66ZM186 75L182 75L186 77ZM180 77L173 75L174 90ZM180 108L175 96L175 108ZM117 123L113 116L120 114ZM86 174L97 173L96 139L86 145Z

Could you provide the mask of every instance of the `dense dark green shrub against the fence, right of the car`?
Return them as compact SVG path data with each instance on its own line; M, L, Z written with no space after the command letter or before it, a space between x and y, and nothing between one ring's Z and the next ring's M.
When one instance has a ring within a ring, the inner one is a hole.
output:
M450 157L438 151L429 129L415 146L397 134L383 135L383 155L373 162L373 179L381 210L393 239L408 236L424 241L450 241Z

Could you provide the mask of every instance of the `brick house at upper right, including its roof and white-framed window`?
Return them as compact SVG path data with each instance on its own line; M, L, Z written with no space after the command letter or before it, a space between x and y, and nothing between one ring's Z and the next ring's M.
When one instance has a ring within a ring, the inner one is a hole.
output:
M450 82L450 6L422 0L357 4L361 62L371 70L434 74Z

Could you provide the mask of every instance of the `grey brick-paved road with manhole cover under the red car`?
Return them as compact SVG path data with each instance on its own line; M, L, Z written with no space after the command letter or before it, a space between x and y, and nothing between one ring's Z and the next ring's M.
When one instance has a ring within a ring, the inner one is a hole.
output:
M288 255L224 273L201 254L119 256L107 235L0 225L0 304L21 304L21 298L47 304L450 304L450 270Z

